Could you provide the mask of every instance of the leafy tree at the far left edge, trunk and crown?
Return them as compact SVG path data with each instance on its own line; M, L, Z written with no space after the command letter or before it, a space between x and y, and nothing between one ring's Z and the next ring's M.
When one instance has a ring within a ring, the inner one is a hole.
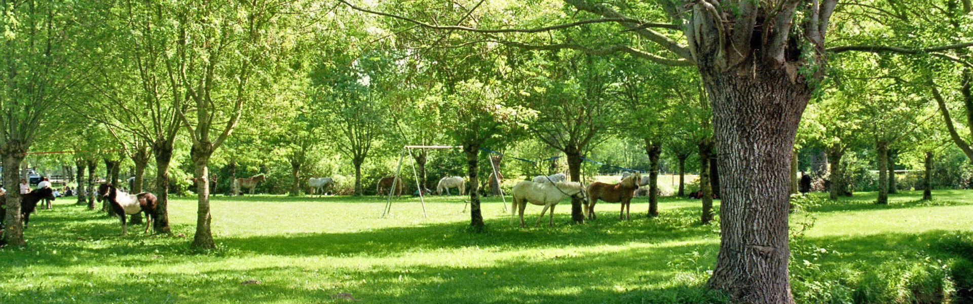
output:
M84 78L83 70L62 64L74 56L79 28L68 26L75 18L64 1L0 1L0 28L4 32L0 55L0 158L3 184L19 184L20 163L46 122L55 101L69 95ZM10 191L4 241L26 245L20 224L20 194Z

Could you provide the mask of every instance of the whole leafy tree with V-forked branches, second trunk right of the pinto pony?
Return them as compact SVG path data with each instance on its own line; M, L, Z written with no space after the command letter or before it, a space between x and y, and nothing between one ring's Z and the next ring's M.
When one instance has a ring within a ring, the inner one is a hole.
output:
M216 247L210 231L209 160L234 132L244 105L267 100L262 89L277 76L285 54L293 1L216 1L201 6L175 4L164 8L178 35L172 53L164 54L175 95L187 106L176 112L193 142L191 158L197 180L197 228L192 247ZM274 32L274 35L270 35Z

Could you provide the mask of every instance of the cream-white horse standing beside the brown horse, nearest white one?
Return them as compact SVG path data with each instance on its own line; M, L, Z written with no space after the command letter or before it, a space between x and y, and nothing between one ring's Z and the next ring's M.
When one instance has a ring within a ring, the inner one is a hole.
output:
M544 209L541 210L541 216L537 218L535 225L541 224L541 219L544 218L544 212L550 208L551 220L549 224L554 226L554 207L561 200L579 196L582 200L585 199L585 191L581 187L581 183L573 181L538 183L524 180L514 186L512 193L514 203L510 212L510 223L514 223L514 213L519 210L521 214L521 227L523 227L523 209L527 207L528 202L533 205L544 206Z

